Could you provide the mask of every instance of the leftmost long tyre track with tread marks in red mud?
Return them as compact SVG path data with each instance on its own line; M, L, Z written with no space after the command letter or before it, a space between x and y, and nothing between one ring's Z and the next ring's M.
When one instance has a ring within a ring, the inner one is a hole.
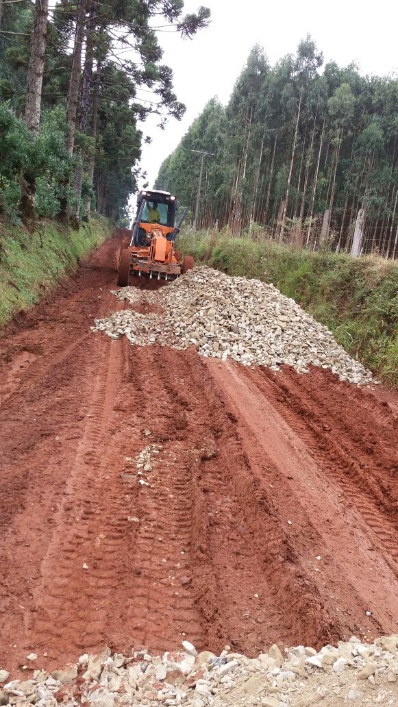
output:
M107 452L122 373L122 342L103 340L99 351L83 433L35 589L36 612L29 633L44 649L51 650L65 636L75 653L85 645L98 645L98 636L104 636L101 609L114 588L112 580L122 559L119 503L107 492L107 464L112 462ZM96 552L102 541L105 547ZM89 563L90 572L83 569L84 563Z

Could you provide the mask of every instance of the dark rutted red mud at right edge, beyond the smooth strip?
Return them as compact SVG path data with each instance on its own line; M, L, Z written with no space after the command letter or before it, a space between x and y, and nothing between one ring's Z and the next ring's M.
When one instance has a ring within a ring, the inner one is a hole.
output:
M303 439L324 473L329 474L341 486L346 498L358 508L380 540L380 549L398 577L398 453L386 434L389 427L393 434L392 415L385 415L383 409L385 426L380 426L376 401L371 410L370 405L365 403L365 395L355 401L356 395L351 395L350 387L336 385L332 380L327 396L321 398L320 402L320 388L317 387L315 393L312 388L315 381L311 380L310 385L305 385L305 379L303 382L298 381L297 375L292 375L290 370L286 371L286 376L281 381L277 375L266 369L262 369L261 374L250 371L245 372L245 375L267 396L283 419ZM314 371L312 375L315 378L317 373ZM330 404L335 396L334 386L339 390L339 400ZM316 414L310 411L311 407L313 410L314 401L317 405ZM347 435L346 426L341 423L344 411L350 408L352 438ZM362 442L363 415L367 417L372 433L376 430L378 434L379 450L373 451L373 448L370 448L368 454L363 449ZM397 426L395 427L398 431Z

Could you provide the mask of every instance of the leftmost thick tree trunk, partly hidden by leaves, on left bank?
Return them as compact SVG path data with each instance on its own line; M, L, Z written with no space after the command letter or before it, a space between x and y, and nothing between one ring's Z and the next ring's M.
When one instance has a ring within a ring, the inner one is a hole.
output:
M33 10L33 28L30 35L28 64L28 90L26 93L25 123L30 132L37 136L40 130L40 107L42 103L42 83L45 68L47 42L48 0L36 0ZM29 172L21 174L21 218L29 224L35 220L36 177Z

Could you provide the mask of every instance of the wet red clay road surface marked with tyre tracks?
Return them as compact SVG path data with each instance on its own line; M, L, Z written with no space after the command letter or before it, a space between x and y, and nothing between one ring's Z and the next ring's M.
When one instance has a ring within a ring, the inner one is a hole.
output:
M0 340L0 667L396 632L389 404L316 368L93 335L124 306L109 293L119 247Z

